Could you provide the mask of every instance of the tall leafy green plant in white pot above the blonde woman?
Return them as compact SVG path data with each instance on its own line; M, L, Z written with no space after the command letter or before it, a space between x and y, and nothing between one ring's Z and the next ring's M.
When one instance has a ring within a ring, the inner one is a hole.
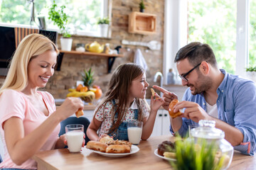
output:
M60 38L61 50L70 51L72 47L72 38L68 32L68 16L64 12L64 8L65 6L60 6L60 8L58 8L55 1L53 1L53 5L50 6L48 11L48 19L53 21L53 24L57 25L60 29L60 33L62 34L62 37Z

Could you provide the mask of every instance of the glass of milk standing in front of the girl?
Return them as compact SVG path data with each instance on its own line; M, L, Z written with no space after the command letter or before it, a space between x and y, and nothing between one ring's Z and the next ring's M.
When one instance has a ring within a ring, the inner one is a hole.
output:
M128 131L128 139L133 145L139 145L139 142L142 138L142 127L143 122L128 122L127 131Z

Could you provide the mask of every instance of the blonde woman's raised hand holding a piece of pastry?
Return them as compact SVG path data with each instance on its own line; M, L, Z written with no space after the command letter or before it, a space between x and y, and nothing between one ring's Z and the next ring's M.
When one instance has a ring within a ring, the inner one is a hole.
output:
M73 115L78 109L83 109L84 104L80 98L68 97L63 104L56 110L61 120Z

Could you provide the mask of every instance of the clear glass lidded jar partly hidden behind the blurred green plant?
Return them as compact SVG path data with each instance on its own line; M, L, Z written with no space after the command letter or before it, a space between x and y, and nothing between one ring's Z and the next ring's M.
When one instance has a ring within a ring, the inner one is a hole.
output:
M214 120L200 120L198 128L191 130L191 136L195 142L205 139L207 144L215 144L218 151L216 152L215 159L223 161L222 169L228 169L233 159L234 148L230 143L224 139L225 132L215 128Z

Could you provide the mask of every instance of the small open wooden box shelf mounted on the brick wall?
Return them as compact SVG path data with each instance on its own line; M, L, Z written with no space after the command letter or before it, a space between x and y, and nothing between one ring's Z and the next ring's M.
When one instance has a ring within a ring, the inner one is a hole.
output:
M150 13L132 12L129 14L129 33L156 33L156 15Z

